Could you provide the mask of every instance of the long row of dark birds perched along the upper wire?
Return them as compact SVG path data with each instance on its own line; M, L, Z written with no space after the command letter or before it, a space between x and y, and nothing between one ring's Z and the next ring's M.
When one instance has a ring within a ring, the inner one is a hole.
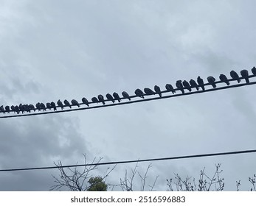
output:
M238 73L235 71L230 71L230 77L233 80L237 80L238 83L241 82L241 79L245 79L246 83L249 83L249 72L246 69L241 70L240 72L241 77L239 77ZM256 76L256 68L253 67L252 68L252 74L254 76ZM229 85L229 79L227 79L226 75L221 74L219 76L219 79L221 82L226 83L226 85ZM212 88L216 88L216 83L215 83L216 79L212 76L207 77L207 82L212 85ZM176 89L173 88L173 85L170 84L166 84L165 88L168 92L172 92L173 94L176 93L176 90L181 90L181 93L185 93L185 89L189 90L190 92L192 91L192 88L196 88L196 90L199 90L199 88L201 88L202 90L205 90L204 88L204 79L201 79L200 76L198 76L197 78L197 82L193 79L190 79L189 82L187 82L186 80L184 80L183 82L181 80L177 80L176 82ZM135 90L135 95L141 97L142 99L144 99L145 95L153 95L153 94L158 94L160 97L162 97L162 92L161 89L159 88L159 86L155 85L154 86L154 91L151 90L151 88L145 88L144 92L140 89L136 89ZM19 105L12 105L12 106L3 106L1 105L0 107L0 113L10 113L10 112L14 112L14 113L24 113L24 112L28 112L30 113L32 110L38 110L38 111L46 111L46 110L57 110L57 107L60 107L61 110L64 109L64 107L69 107L72 108L73 106L77 106L80 107L80 104L86 104L89 107L89 104L94 104L94 103L102 103L105 104L105 101L111 101L111 102L121 102L121 98L119 96L118 93L114 92L113 95L111 95L110 93L107 93L105 95L106 99L104 99L104 96L99 94L97 97L94 96L91 98L91 102L88 101L88 99L86 99L85 97L83 97L82 102L83 103L78 103L77 100L72 99L71 103L69 103L68 100L64 100L63 102L60 101L60 99L57 102L57 105L55 104L55 102L47 102L46 104L38 102L37 104L35 104L35 106L33 104L19 104ZM129 96L129 94L125 91L122 92L122 99L128 99L129 101L131 101L131 96Z

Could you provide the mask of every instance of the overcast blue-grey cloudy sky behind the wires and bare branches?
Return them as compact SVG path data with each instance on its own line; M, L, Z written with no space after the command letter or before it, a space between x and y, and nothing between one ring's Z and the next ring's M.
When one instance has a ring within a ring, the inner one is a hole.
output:
M3 105L134 94L255 65L255 1L0 0ZM255 85L72 113L1 118L0 168L137 160L256 148ZM1 114L3 116L3 114ZM157 191L178 173L248 191L255 154L152 162ZM143 173L149 163L139 163ZM134 164L117 166L118 184ZM103 174L106 167L97 171ZM49 191L58 170L1 172L1 191ZM139 180L136 182L139 189ZM119 190L120 188L116 188Z

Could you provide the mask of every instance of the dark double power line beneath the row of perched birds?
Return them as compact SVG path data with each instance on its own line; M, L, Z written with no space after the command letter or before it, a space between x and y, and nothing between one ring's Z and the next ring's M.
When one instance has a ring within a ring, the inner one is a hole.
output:
M249 78L251 77L255 77L255 76L249 76ZM243 79L243 78L240 78ZM234 79L228 79L229 81L236 81ZM221 81L217 81L215 82L216 84L218 83L223 83ZM83 107L83 108L77 108L77 109L71 109L71 110L57 110L57 111L50 111L50 112L43 112L43 113L29 113L29 114L21 114L21 115L15 115L15 116L0 116L0 118L14 118L14 117L21 117L21 116L38 116L38 115L45 115L45 114L50 114L50 113L67 113L67 112L72 112L72 111L77 111L77 110L91 110L91 109L96 109L96 108L100 108L100 107L113 107L113 106L117 106L117 105L122 105L122 104L133 104L133 103L137 103L137 102L147 102L147 101L151 101L151 100L157 100L157 99L167 99L167 98L172 98L172 97L177 97L177 96L186 96L186 95L191 95L191 94L195 94L195 93L205 93L205 92L210 92L210 91L214 91L214 90L224 90L227 88L238 88L238 87L243 87L246 85L255 85L256 82L249 82L249 83L239 83L236 85L229 85L229 86L223 86L220 88L210 88L207 90L195 90L192 92L187 92L187 93L176 93L176 94L172 94L172 95L168 95L168 96L162 96L162 97L153 97L153 98L148 98L148 99L139 99L139 100L134 100L134 101L129 101L129 102L119 102L119 103L113 103L113 104L103 104L103 105L97 105L97 106L93 106L93 107ZM204 85L210 85L209 83L204 84ZM174 89L174 90L179 90L179 89ZM170 91L167 90L163 90L162 93L170 93ZM143 96L152 96L154 94L145 94ZM134 96L130 96L131 99L138 97L136 95ZM125 99L124 97L120 98L120 99ZM110 102L111 100L105 99L104 102ZM91 102L89 102L89 104L91 104ZM67 106L64 106L67 107Z

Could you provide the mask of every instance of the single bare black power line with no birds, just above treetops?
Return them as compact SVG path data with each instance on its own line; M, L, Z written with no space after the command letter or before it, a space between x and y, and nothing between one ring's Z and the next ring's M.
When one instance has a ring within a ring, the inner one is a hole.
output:
M124 164L124 163L140 163L140 162L160 161L160 160L179 160L179 159L188 159L188 158L195 158L195 157L211 157L211 156L230 155L230 154L245 154L245 153L252 153L252 152L256 152L256 149L242 150L242 151L235 151L235 152L193 154L193 155L178 156L178 157L162 157L162 158L153 158L153 159L144 159L144 160L127 160L127 161L90 163L90 164L69 165L69 166L51 166L51 167L35 167L35 168L9 168L9 169L0 169L0 171L28 171L28 170L39 170L39 169L51 169L51 168L70 168L70 167L81 167L81 166L117 165L117 164Z

